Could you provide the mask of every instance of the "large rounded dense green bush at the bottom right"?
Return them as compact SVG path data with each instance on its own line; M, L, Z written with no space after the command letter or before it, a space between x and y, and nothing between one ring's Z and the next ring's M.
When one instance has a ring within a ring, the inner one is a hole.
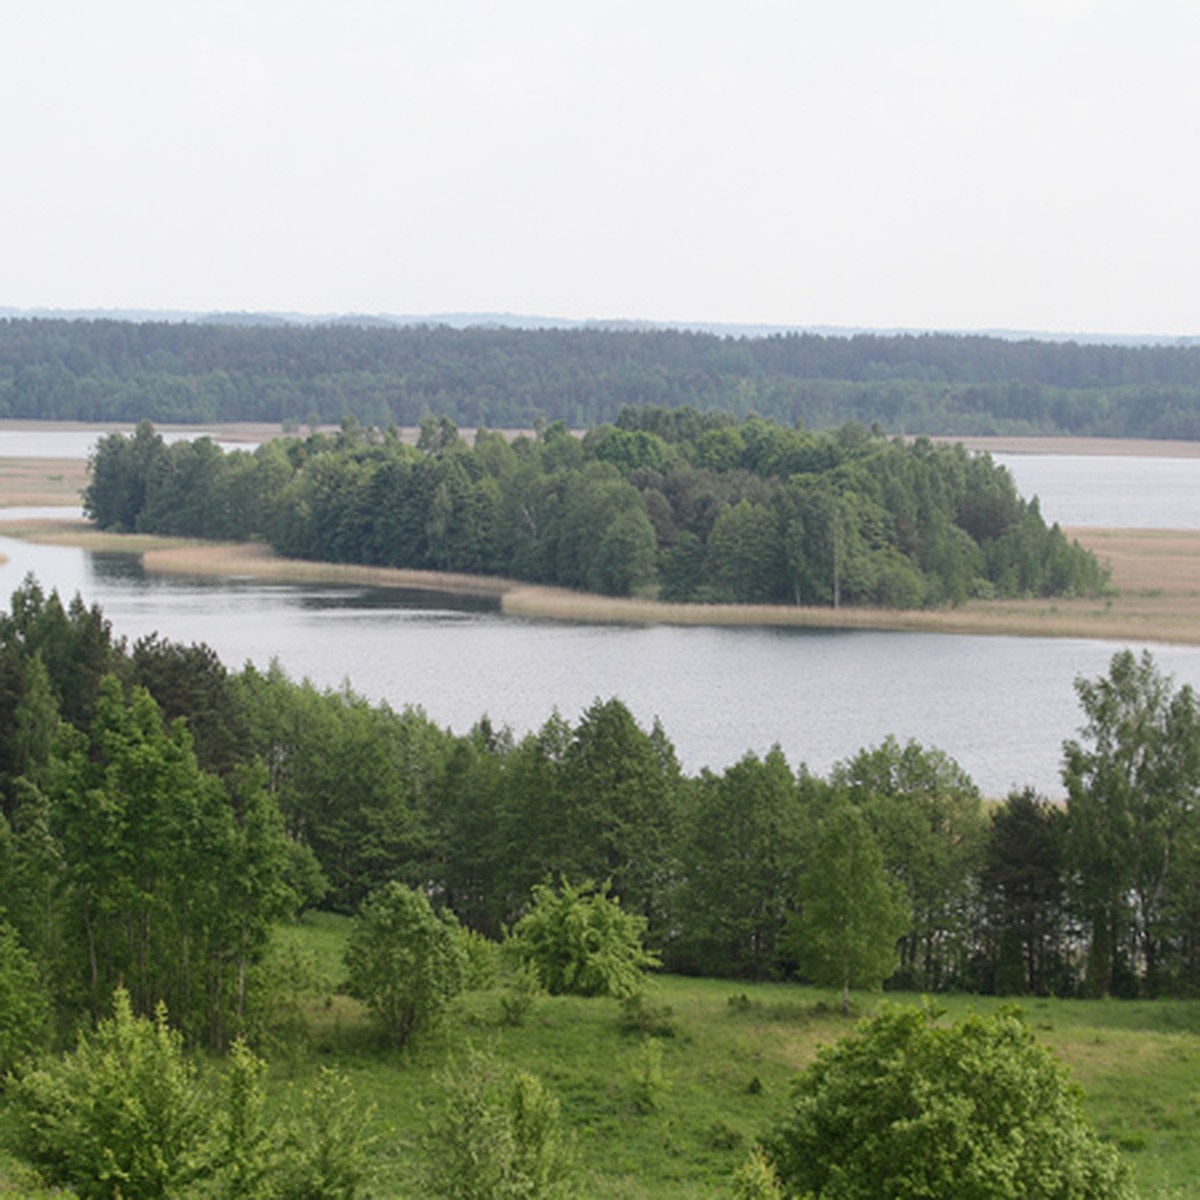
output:
M1063 1067L1014 1010L938 1026L886 1008L822 1050L767 1140L790 1195L1132 1196Z

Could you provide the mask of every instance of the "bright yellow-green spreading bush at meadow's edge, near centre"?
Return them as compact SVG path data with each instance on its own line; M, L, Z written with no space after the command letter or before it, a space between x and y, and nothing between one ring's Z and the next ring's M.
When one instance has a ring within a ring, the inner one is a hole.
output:
M659 961L643 946L646 924L622 908L607 884L572 887L564 880L556 890L540 883L509 946L551 995L629 996Z

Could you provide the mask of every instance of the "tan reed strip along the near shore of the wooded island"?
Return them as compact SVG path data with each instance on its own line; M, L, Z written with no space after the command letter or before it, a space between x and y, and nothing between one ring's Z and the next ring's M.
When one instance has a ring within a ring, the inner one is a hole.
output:
M505 616L528 620L758 625L1200 644L1200 530L1067 530L1068 536L1078 539L1109 565L1112 594L974 600L959 608L944 610L668 604L589 595L493 576L286 559L260 544L102 533L80 518L5 521L2 510L0 533L49 545L137 553L145 570L162 574L492 596Z

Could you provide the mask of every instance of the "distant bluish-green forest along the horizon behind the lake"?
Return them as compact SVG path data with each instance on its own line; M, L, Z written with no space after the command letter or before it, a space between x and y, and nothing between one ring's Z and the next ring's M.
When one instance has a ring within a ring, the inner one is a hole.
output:
M1200 346L989 336L0 322L0 416L611 422L628 406L893 433L1200 437Z

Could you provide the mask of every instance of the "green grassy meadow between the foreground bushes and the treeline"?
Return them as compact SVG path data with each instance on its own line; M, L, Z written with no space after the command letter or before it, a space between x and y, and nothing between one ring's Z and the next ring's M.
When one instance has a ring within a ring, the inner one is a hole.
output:
M330 988L343 978L347 922L311 916L280 931L314 960ZM854 1027L829 994L786 984L662 976L648 980L649 1024L661 1036L661 1087L644 1087L646 1034L623 1027L611 1000L542 997L504 1024L494 988L462 998L409 1049L380 1044L361 1006L326 988L307 1010L308 1045L275 1056L270 1091L283 1099L323 1067L370 1105L376 1195L421 1195L422 1145L445 1079L468 1046L538 1075L572 1130L580 1195L588 1200L704 1200L784 1110L796 1073L820 1045ZM856 997L858 1015L884 997ZM895 995L889 1001L919 1002ZM992 1012L994 997L937 997L947 1019ZM1038 1039L1070 1068L1085 1111L1128 1160L1142 1200L1182 1200L1200 1178L1200 1002L1049 1001L1021 1007ZM666 1014L670 1009L670 1014ZM0 1195L42 1196L0 1154Z

